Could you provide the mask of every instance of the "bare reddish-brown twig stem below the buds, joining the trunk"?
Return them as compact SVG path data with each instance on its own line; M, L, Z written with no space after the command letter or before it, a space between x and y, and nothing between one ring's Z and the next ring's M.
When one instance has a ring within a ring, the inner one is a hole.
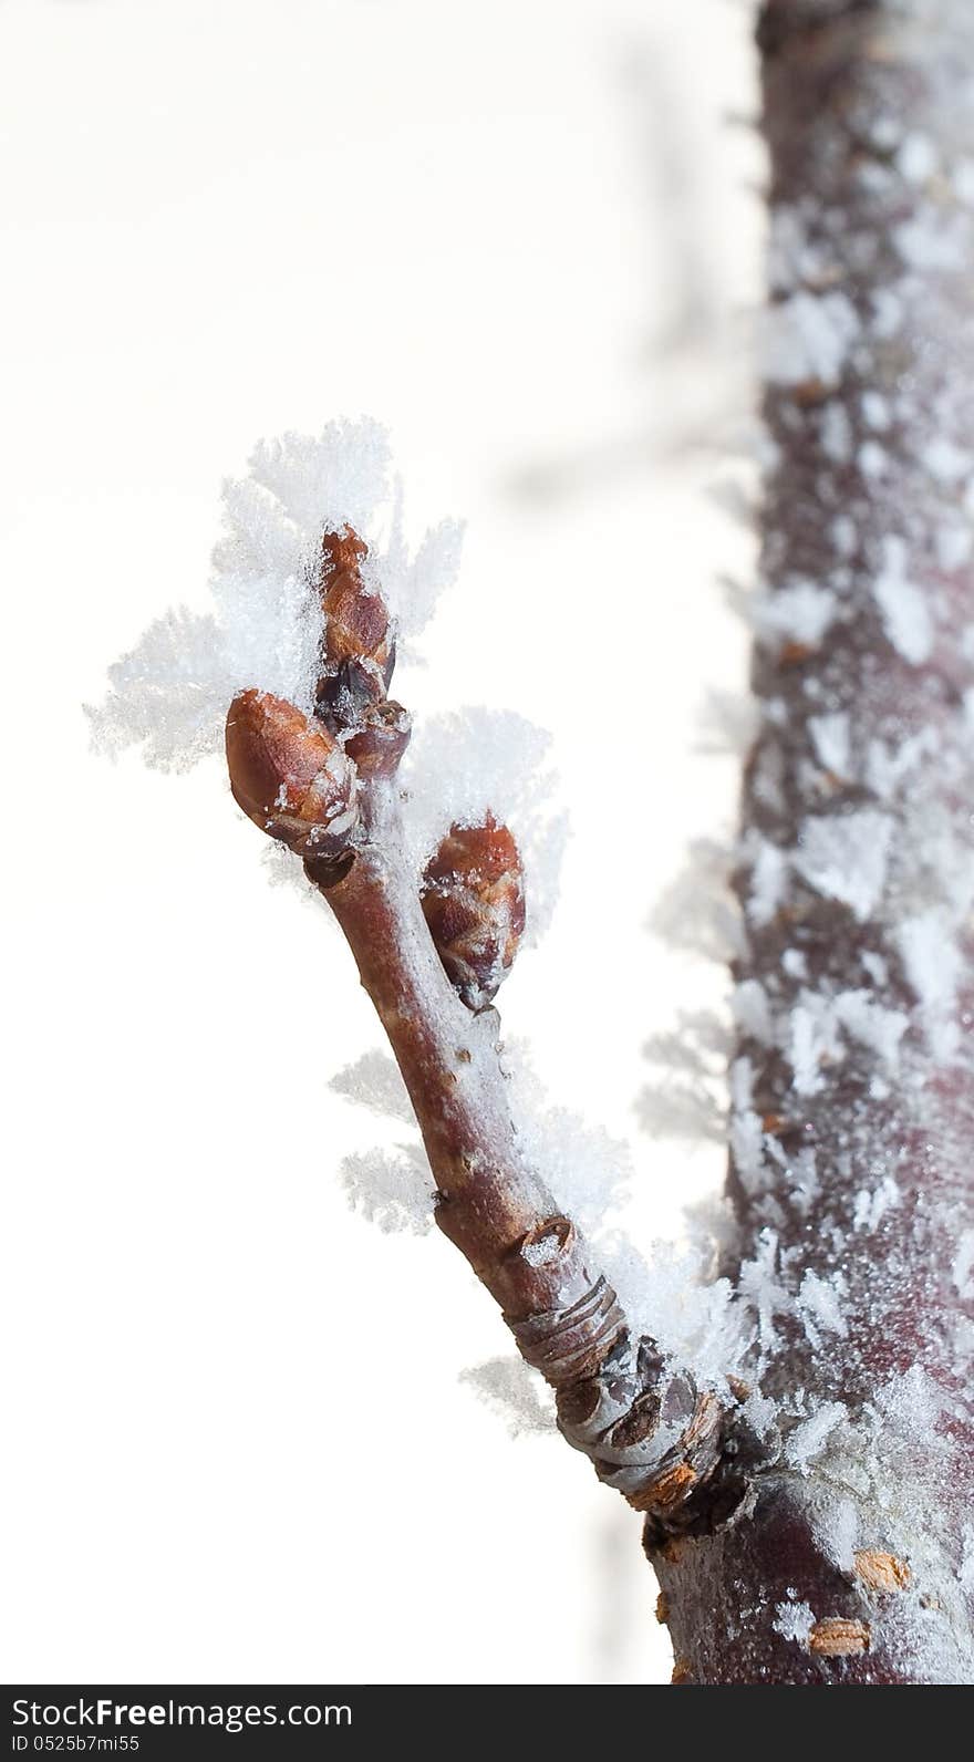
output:
M405 856L396 786L366 784L347 874L322 886L389 1036L437 1182L437 1225L500 1304L548 1380L558 1425L599 1478L660 1526L689 1522L720 1464L712 1394L632 1341L581 1233L525 1156L511 1119L493 1008L472 1013L433 946Z

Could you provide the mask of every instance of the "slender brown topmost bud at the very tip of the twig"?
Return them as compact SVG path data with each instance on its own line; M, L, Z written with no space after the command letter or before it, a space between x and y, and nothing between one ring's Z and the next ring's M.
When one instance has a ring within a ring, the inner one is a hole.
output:
M368 546L358 532L326 532L321 541L321 604L324 611L322 714L347 726L358 710L380 703L393 677L393 633L380 594L361 576Z

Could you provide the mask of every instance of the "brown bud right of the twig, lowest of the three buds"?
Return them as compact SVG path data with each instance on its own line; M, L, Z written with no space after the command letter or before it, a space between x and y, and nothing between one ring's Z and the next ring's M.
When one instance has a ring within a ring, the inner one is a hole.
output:
M521 858L493 814L481 826L451 826L426 863L423 911L454 990L469 1010L484 1010L525 929Z

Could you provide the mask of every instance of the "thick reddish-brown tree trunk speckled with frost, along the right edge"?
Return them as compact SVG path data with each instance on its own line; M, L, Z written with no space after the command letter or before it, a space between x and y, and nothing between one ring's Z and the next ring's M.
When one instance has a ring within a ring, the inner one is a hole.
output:
M770 0L757 41L727 1270L764 1466L731 1522L648 1549L678 1681L970 1683L974 14Z

